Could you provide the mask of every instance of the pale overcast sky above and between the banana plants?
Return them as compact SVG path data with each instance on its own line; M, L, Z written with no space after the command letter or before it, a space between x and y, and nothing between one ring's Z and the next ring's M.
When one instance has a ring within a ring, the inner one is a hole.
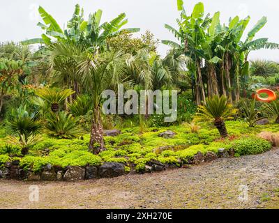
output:
M198 1L184 0L184 7L188 12ZM248 29L261 18L267 16L268 23L258 34L257 38L269 38L269 41L279 43L279 2L278 0L204 0L206 13L221 12L221 22L229 20L229 17L240 15L242 18L251 16ZM76 3L84 7L87 17L97 9L103 10L103 22L111 20L126 13L128 25L126 27L140 27L141 33L149 29L156 38L163 40L175 40L164 24L176 26L176 0L0 0L0 41L20 41L29 38L38 38L42 31L37 22L40 16L37 13L38 6L43 6L57 22L63 27L73 15ZM158 52L165 55L168 47L159 45ZM259 50L250 54L250 59L269 59L279 61L279 50Z

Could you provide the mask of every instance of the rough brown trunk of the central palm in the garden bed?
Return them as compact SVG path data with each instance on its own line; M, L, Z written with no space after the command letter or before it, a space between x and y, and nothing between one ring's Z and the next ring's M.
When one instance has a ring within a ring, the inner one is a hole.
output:
M91 125L91 135L89 141L89 151L94 154L98 154L104 151L105 143L103 137L103 123L101 117L101 109L97 107L93 110L92 125Z

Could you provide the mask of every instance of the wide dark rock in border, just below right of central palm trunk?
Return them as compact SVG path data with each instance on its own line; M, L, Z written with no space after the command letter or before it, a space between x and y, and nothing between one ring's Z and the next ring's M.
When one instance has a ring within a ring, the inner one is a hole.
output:
M105 162L99 169L102 178L112 178L125 174L124 165L118 162Z

